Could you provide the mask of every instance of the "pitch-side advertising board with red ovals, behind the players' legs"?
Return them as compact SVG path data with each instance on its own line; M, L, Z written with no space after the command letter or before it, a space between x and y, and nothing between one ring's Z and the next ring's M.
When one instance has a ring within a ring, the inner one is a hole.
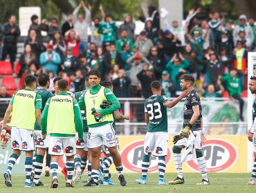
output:
M136 173L141 171L143 161L144 136L120 136L119 138L122 165L126 173ZM250 172L253 163L252 143L248 142L246 136L207 136L207 141L202 144L203 155L207 162L208 172ZM172 136L168 142L168 156L166 157L166 172L176 172L172 154ZM0 173L6 171L8 156L12 154L9 147L0 150ZM102 154L102 157L104 155ZM24 152L21 158L13 167L12 174L24 173ZM60 157L59 172L64 167L65 157ZM158 159L152 156L149 172L158 172ZM111 166L111 172L116 172L115 167ZM183 163L183 172L199 172L197 161Z

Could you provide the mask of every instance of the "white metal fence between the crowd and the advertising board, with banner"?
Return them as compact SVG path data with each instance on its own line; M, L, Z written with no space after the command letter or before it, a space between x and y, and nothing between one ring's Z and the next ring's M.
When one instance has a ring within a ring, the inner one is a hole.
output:
M0 99L0 117L4 116L10 99ZM144 103L142 98L120 98L122 114L130 114L131 120L117 121L118 134L145 134L147 125L144 121ZM244 99L244 114L247 112L247 99ZM245 122L239 122L239 104L228 98L204 98L203 130L205 134L246 134L247 116ZM167 110L169 134L177 134L183 125L183 101L174 108Z

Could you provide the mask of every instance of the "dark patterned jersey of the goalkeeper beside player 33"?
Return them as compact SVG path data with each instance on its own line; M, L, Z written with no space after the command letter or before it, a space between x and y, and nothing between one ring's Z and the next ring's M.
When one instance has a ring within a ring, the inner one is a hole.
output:
M190 122L190 119L192 118L192 115L194 113L193 111L194 106L198 106L200 111L199 118L196 120L196 122L192 126L192 130L196 131L196 130L201 130L202 105L201 105L199 94L195 90L192 90L190 94L188 94L184 102L184 107L183 107L184 124L188 124Z

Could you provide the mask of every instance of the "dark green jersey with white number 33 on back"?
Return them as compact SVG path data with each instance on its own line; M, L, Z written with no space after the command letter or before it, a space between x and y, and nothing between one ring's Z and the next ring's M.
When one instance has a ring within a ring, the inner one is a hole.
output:
M167 108L165 96L153 95L145 101L145 113L149 114L148 132L167 132Z

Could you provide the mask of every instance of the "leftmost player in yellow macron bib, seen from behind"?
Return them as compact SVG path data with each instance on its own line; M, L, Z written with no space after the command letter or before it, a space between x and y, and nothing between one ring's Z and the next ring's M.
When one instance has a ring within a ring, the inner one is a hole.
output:
M31 182L31 172L33 167L33 151L34 138L33 130L35 127L35 120L39 127L41 127L41 108L42 99L39 94L35 93L34 90L37 85L37 78L28 75L25 77L26 88L19 90L13 94L12 99L6 110L6 114L3 118L3 129L6 128L6 122L12 112L12 120L9 126L11 127L11 143L13 153L8 159L8 167L6 172L3 174L6 186L11 187L11 171L13 165L15 165L17 159L21 155L21 151L26 152L25 168L26 168L26 182L25 187L33 187L34 184Z

